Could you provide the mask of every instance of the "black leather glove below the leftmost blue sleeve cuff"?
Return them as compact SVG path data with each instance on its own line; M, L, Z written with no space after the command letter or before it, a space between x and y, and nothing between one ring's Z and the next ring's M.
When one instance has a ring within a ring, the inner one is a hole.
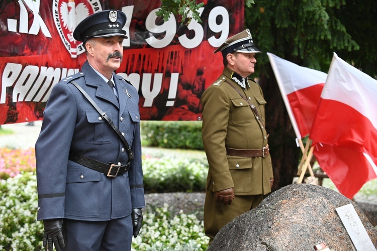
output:
M63 226L63 220L62 219L44 220L43 224L45 226L45 233L43 235L43 242L42 242L43 246L46 247L46 244L47 244L48 250L52 251L55 245L56 251L59 251L60 248L64 247L63 232L61 231L61 228Z

